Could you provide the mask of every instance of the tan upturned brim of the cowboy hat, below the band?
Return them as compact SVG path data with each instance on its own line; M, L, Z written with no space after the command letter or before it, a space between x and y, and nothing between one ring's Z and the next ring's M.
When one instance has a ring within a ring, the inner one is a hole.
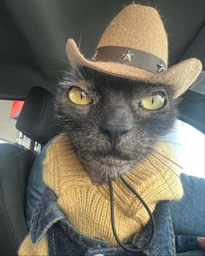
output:
M187 91L202 71L201 61L194 57L175 64L167 71L158 74L126 64L91 61L83 57L73 39L68 40L66 52L69 63L73 67L86 66L118 77L143 80L154 84L168 84L173 86L175 98L180 97L183 92Z

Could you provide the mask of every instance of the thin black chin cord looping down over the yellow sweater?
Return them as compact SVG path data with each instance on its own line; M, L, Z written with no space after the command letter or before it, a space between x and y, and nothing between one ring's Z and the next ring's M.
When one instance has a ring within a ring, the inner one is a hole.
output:
M116 242L118 243L119 246L121 246L124 250L129 251L129 252L142 252L145 249L148 248L148 246L150 245L150 243L152 242L152 240L154 239L154 235L155 235L155 218L152 214L152 212L149 209L149 206L145 203L145 201L142 199L142 197L138 194L138 192L136 192L136 190L128 184L128 182L123 179L122 177L120 177L120 179L122 180L122 182L124 183L124 185L126 185L126 187L129 189L130 192L132 192L134 195L136 195L137 199L139 199L142 203L142 205L145 207L146 211L149 213L149 217L151 219L151 224L152 224L152 230L151 230L151 234L149 237L148 242L142 246L141 248L137 248L136 246L131 248L128 246L125 246L122 241L119 239L117 233L116 233L116 224L115 224L115 213L114 213L114 192L113 192L113 186L112 186L112 181L109 178L109 192L110 192L110 212L111 212L111 226L112 226L112 232L114 234L114 237L116 239Z

